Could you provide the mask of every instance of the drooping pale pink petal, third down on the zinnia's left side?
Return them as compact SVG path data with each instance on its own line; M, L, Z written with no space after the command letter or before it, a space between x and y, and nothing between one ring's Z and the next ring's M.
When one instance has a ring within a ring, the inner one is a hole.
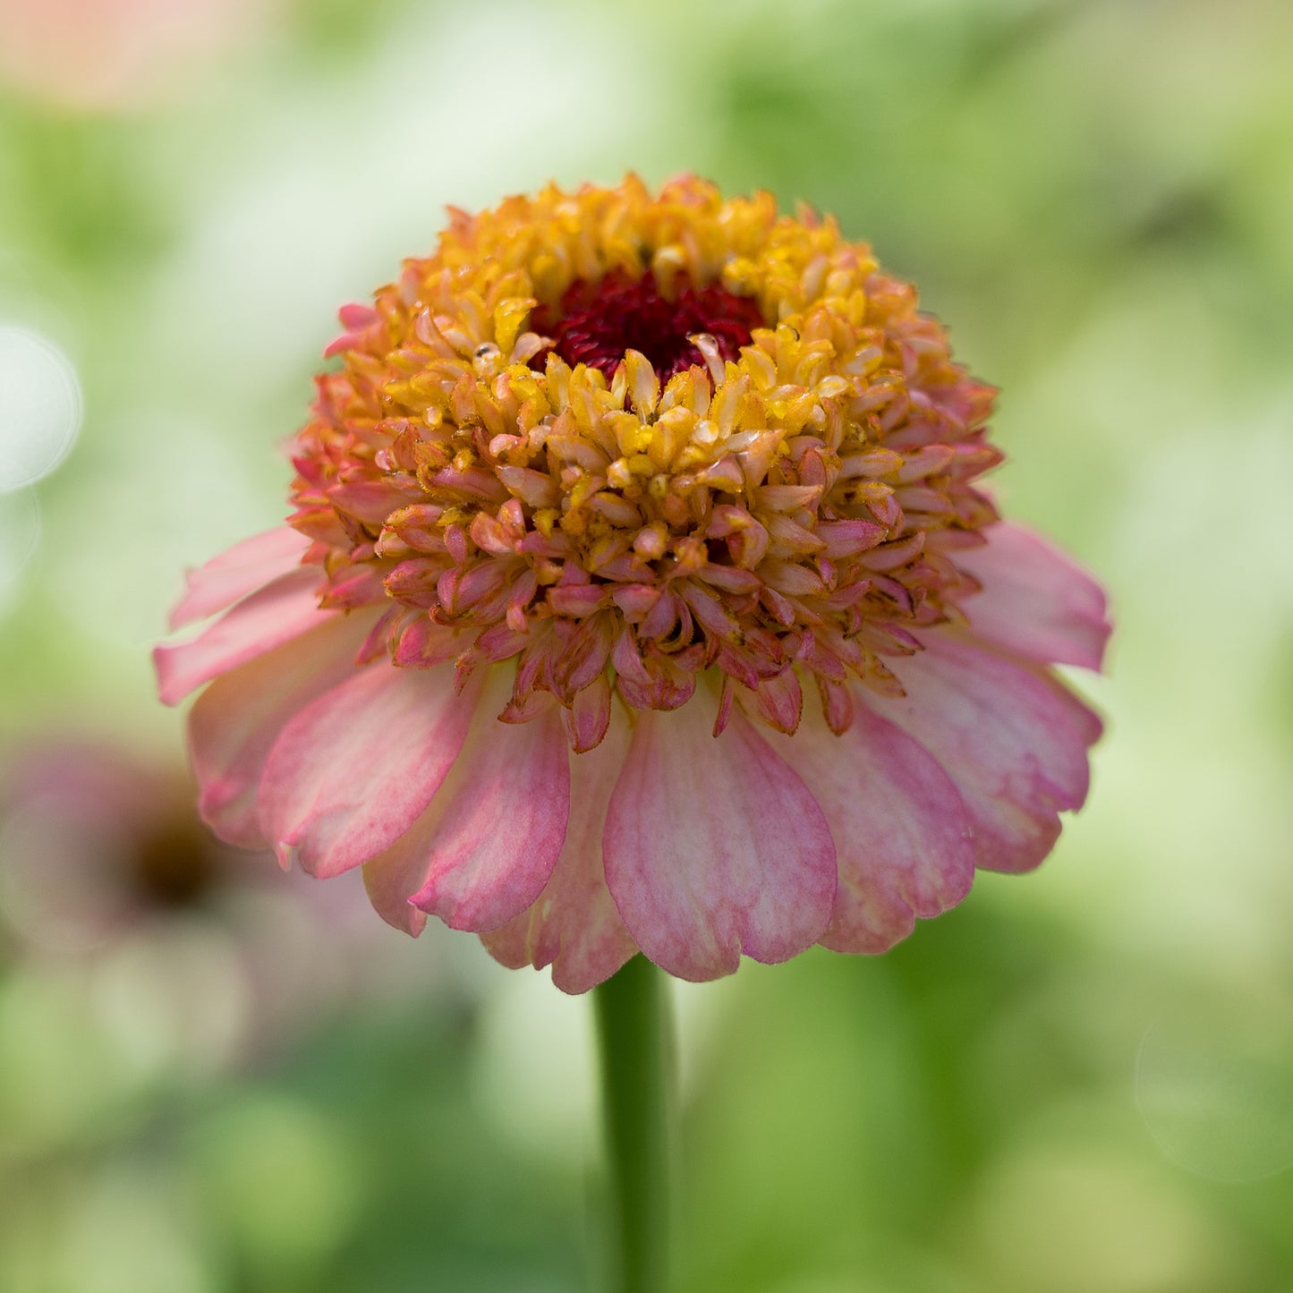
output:
M317 628L217 678L189 714L189 759L203 821L230 844L264 848L256 791L278 733L354 672L374 617L327 615Z

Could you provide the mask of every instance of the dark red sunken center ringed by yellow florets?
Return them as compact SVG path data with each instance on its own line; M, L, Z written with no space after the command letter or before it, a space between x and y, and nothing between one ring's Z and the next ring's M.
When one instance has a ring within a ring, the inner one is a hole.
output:
M716 283L693 287L680 277L666 297L654 274L608 274L595 283L572 283L556 309L539 306L534 312L530 326L551 336L552 349L572 367L587 363L610 381L625 352L640 350L661 381L668 381L693 363L705 363L689 336L709 332L719 354L736 359L741 347L750 344L750 331L763 327L763 317L751 297ZM535 356L535 367L543 366L546 354Z

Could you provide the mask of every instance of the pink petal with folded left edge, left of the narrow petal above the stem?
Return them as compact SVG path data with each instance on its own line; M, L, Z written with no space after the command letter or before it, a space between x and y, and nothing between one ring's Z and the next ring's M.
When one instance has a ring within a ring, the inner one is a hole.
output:
M493 672L431 807L363 869L374 906L410 934L422 913L454 930L498 928L539 896L565 842L570 768L561 719L553 707L529 723L500 723L512 680L507 670Z

